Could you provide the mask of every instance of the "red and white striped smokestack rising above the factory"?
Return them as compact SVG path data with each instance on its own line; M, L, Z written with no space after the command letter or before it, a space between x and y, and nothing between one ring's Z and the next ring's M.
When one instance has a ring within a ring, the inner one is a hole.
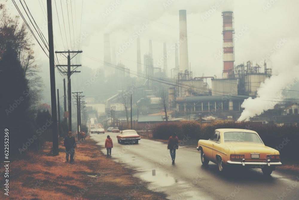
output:
M223 19L223 73L222 78L234 78L234 13L222 12Z

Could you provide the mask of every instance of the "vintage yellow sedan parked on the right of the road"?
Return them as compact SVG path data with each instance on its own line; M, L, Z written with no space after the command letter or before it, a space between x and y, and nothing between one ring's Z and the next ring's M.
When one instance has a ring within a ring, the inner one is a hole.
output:
M264 145L253 130L216 129L209 140L198 141L203 165L209 161L218 165L223 172L228 166L261 168L264 175L270 175L275 166L280 166L280 154L276 149Z

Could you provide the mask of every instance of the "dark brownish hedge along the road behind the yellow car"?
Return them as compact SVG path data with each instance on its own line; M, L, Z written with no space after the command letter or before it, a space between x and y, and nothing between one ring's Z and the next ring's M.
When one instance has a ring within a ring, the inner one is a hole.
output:
M184 136L191 139L209 139L215 129L239 128L256 131L266 146L280 151L282 158L294 159L298 162L299 127L298 125L278 126L276 124L254 124L251 122L232 122L214 120L210 124L199 124L197 121L179 121L156 124L152 130L155 139L169 139L173 132L179 140Z

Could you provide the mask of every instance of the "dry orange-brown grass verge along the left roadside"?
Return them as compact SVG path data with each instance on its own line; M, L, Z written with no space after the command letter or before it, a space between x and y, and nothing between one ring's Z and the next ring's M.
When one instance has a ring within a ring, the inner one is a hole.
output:
M58 156L49 154L51 145L10 163L9 199L165 199L146 187L134 190L136 184L146 183L107 158L89 137L78 145L74 164L65 160L63 140ZM3 186L4 176L0 182ZM8 199L2 192L0 199L4 198Z

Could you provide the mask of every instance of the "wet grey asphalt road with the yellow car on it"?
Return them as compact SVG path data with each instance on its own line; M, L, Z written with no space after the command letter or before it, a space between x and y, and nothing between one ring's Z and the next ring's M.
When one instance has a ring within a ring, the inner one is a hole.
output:
M135 169L136 177L150 183L136 183L132 191L148 187L166 193L167 199L299 199L299 172L276 170L265 177L260 169L248 169L221 175L216 164L202 166L196 147L180 146L172 165L167 145L162 142L141 139L138 145L119 144L119 133L92 134L105 154L108 134L113 141L111 159Z

